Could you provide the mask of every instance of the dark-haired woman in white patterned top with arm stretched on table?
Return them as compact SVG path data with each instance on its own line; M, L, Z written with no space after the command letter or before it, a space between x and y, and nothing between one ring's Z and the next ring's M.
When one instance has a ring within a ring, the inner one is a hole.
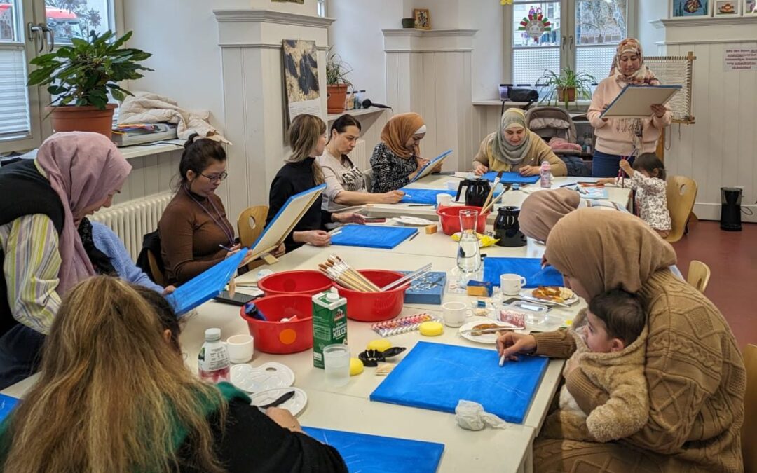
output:
M332 123L326 150L318 158L326 181L323 210L337 212L351 205L397 204L402 200L403 191L369 194L366 174L347 156L357 145L357 138L360 138L360 122L352 115L344 114Z

